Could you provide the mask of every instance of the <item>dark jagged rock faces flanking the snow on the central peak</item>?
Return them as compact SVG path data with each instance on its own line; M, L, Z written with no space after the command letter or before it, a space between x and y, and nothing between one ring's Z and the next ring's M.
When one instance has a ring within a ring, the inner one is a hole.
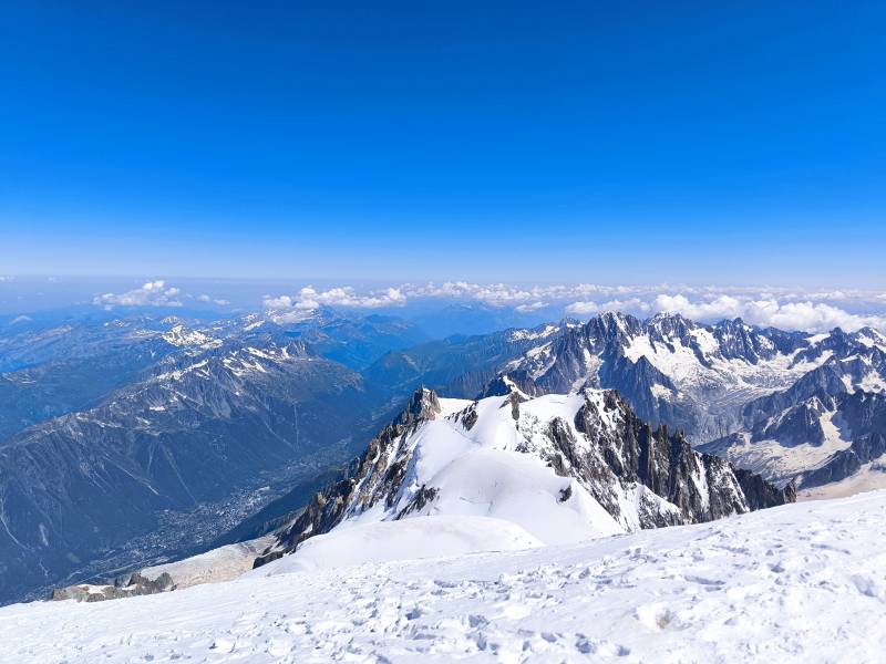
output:
M513 385L511 390L501 407L512 411L519 429L519 405L525 398ZM540 454L557 475L575 478L587 488L616 520L626 516L621 513L624 491L637 485L649 489L637 492L643 528L709 521L795 499L793 487L780 490L759 476L736 473L724 459L694 452L681 433L671 435L664 426L651 428L617 392L601 394L602 405L586 397L574 427L553 418L545 429L549 446L533 449L527 439L517 452ZM419 390L403 413L369 444L350 476L318 492L307 509L278 532L276 544L256 560L256 567L295 551L310 537L329 532L349 515L379 502L393 507L414 449L410 436L440 411L436 395ZM451 417L471 430L477 422L476 403ZM437 488L422 486L395 518L422 509L437 496ZM662 509L656 497L670 506ZM562 495L562 501L568 498Z

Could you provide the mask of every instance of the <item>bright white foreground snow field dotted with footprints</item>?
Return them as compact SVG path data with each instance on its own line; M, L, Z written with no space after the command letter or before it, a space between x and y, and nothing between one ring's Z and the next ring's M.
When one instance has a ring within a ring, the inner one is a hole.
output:
M172 593L0 609L0 658L877 662L884 542L877 491L581 544L290 573L284 558Z

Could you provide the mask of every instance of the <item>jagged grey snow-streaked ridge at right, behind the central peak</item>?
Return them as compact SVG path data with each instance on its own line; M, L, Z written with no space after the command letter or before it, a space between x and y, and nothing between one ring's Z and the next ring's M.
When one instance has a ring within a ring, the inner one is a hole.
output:
M504 371L529 394L616 388L645 419L704 443L740 429L749 403L787 390L828 361L883 351L886 340L869 328L811 335L739 319L700 325L679 314L639 321L605 313L565 328ZM870 385L877 380L858 377Z

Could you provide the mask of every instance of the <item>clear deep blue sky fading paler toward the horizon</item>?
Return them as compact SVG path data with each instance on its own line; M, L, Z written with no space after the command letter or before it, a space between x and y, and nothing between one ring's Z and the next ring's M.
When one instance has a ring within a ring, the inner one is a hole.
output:
M884 286L884 2L0 9L0 272Z

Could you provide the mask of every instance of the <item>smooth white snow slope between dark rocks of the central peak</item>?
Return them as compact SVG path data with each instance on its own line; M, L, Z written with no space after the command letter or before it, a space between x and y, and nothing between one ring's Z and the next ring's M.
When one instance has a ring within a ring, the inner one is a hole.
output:
M543 427L557 416L574 419L585 398L581 394L540 397L522 404L518 421L507 397L476 403L439 400L437 417L403 442L401 454L412 454L393 505L375 502L367 511L354 506L348 520L374 521L404 512L486 516L517 523L545 543L622 532L624 526L585 487L558 476L543 455L523 450L527 435L549 448L550 442L542 438ZM470 412L476 413L476 421L468 428L464 416ZM527 434L529 427L535 428ZM383 473L367 477L367 485L380 480L380 486L367 488L389 490L384 478ZM422 488L435 496L419 505Z

